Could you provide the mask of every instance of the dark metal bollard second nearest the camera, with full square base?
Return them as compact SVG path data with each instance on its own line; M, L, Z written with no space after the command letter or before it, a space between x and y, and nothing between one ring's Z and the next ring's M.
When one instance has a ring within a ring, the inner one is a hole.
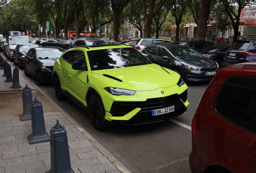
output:
M35 97L35 100L31 103L31 119L32 133L27 137L29 144L50 141L49 134L45 131L43 106L41 102L37 100L37 97Z

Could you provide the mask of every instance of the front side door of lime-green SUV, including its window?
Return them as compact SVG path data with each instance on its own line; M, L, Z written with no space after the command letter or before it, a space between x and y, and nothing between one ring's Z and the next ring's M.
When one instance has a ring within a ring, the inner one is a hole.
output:
M87 67L85 53L81 50L75 50L74 62L81 62L84 67ZM69 69L68 88L72 91L72 95L81 102L85 102L85 88L87 85L87 72L85 70Z

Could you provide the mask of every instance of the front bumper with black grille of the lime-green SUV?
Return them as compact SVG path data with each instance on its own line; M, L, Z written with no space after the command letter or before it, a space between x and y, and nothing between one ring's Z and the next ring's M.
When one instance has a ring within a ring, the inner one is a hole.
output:
M174 106L175 111L152 116L152 111ZM111 110L106 111L105 119L111 124L140 125L155 123L182 115L188 106L187 90L180 95L173 94L166 97L147 99L143 102L113 102Z

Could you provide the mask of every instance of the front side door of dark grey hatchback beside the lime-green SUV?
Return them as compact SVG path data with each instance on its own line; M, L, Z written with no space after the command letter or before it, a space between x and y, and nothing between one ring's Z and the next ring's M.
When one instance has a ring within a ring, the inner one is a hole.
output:
M173 66L173 57L164 47L158 46L156 57L160 66L169 69Z

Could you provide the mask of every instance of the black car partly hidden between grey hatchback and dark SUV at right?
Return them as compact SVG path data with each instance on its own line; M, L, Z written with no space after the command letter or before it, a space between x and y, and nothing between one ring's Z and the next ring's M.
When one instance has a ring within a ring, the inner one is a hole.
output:
M214 60L222 67L223 57L230 46L231 44L217 44L199 49L198 52L200 52L202 56Z

